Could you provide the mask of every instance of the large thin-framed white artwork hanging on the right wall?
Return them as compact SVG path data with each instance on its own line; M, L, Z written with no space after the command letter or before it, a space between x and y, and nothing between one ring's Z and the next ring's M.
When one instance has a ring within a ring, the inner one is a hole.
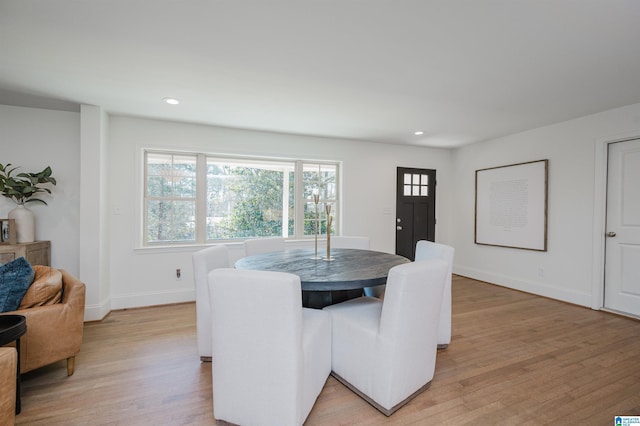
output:
M549 160L476 170L474 242L547 251Z

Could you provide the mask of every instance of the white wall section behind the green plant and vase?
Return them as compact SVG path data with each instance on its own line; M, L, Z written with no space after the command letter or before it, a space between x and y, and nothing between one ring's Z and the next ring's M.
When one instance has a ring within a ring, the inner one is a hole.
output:
M0 163L39 172L51 166L57 185L48 206L29 203L36 239L51 241L51 263L74 275L79 271L80 114L0 105ZM0 197L0 217L15 204Z

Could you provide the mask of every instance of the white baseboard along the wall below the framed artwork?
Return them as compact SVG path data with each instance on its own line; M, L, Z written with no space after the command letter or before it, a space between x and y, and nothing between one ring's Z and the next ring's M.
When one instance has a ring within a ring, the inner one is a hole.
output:
M585 307L591 306L590 294L564 290L559 285L546 285L539 282L521 280L508 275L497 274L488 270L468 268L460 265L454 265L453 273L462 275L464 277L499 285L501 287L512 288L514 290L524 291L526 293L537 294L539 296L573 303L575 305Z

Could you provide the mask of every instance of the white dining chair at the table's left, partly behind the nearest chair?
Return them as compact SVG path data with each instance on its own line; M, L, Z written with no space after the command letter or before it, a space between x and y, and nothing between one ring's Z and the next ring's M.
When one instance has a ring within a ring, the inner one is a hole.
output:
M191 256L196 286L196 331L200 360L211 362L211 307L207 274L214 269L230 266L229 251L225 246L211 246Z

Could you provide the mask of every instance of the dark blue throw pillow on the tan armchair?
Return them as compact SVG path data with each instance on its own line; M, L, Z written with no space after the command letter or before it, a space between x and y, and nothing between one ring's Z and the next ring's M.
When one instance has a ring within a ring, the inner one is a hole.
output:
M33 277L33 268L24 257L0 266L0 312L18 309Z

